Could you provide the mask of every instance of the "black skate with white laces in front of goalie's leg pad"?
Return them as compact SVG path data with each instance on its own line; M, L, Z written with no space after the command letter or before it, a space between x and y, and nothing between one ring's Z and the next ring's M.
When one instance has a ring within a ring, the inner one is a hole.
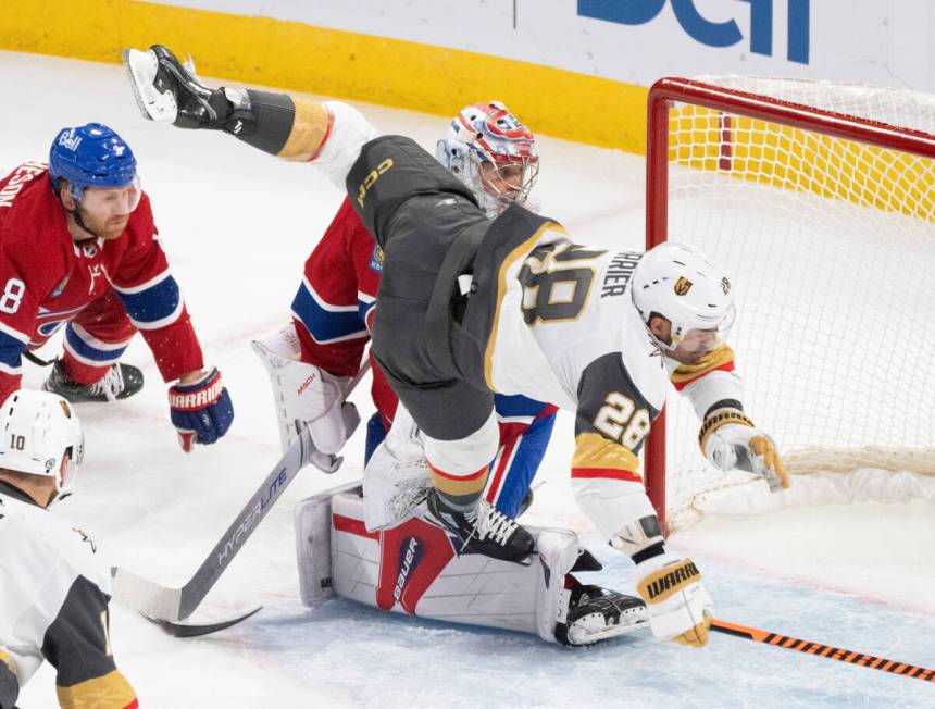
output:
M459 552L473 551L516 563L522 563L533 553L533 535L485 500L478 500L473 509L460 512L448 507L438 492L432 489L426 506L428 515L461 542Z

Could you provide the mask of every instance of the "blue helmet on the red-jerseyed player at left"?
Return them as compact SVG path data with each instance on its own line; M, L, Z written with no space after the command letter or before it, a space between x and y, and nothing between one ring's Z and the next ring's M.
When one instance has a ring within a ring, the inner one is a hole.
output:
M126 141L100 123L62 128L49 150L49 177L80 200L86 187L126 187L136 182L136 158Z

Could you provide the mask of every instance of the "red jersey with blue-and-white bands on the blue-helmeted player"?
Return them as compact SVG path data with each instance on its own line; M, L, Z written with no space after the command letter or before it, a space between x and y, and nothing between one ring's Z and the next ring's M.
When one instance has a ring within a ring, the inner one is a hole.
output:
M0 396L17 387L23 350L46 343L111 289L165 381L202 366L146 194L119 238L75 242L45 163L24 163L0 178Z

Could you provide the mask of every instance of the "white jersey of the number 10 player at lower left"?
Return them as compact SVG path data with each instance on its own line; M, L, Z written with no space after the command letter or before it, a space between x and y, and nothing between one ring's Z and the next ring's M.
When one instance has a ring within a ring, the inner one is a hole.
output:
M0 687L4 668L22 686L45 659L62 707L136 707L111 652L110 574L95 542L0 482Z

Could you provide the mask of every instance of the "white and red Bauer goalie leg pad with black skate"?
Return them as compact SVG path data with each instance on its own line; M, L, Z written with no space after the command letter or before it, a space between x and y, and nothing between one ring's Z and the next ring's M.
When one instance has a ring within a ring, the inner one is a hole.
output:
M445 530L419 514L391 530L367 532L358 484L299 502L295 524L302 602L311 608L337 595L565 645L649 627L640 599L577 584L570 575L600 564L568 530L531 527L538 555L527 565L458 556Z

